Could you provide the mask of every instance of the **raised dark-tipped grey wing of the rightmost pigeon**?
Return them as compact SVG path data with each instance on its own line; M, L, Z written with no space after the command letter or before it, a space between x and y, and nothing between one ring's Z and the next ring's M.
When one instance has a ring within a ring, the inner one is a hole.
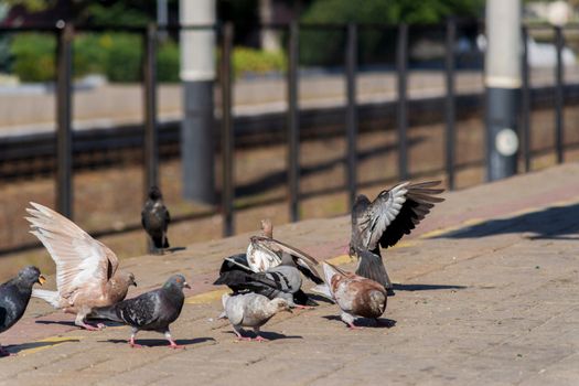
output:
M378 243L383 248L395 245L425 218L435 203L444 201L436 194L440 181L411 184L403 182L378 194L367 210L356 218L363 247L375 250Z

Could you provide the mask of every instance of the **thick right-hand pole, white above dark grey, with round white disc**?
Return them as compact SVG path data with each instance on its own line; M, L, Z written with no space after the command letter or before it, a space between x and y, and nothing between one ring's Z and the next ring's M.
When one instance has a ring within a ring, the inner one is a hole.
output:
M486 1L486 178L517 171L521 93L521 0Z

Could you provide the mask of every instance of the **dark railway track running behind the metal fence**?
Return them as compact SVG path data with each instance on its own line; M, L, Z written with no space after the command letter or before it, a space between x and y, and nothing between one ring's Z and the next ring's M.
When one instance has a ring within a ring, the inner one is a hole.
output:
M534 109L551 108L555 87L533 88ZM564 87L565 104L579 104L579 83ZM483 94L461 94L455 98L457 119L482 116ZM396 101L358 104L360 130L373 131L396 127ZM444 97L408 100L409 125L432 125L444 121ZM300 138L343 136L345 107L324 107L300 111ZM216 128L219 121L215 122ZM280 112L235 117L235 143L237 148L262 147L286 141L287 116ZM180 121L159 125L161 159L179 157ZM218 136L219 130L215 130ZM73 159L75 170L94 170L115 164L138 163L142 160L142 125L95 127L74 131ZM218 138L215 138L219 151ZM20 180L51 175L55 171L54 132L28 133L0 137L0 179Z

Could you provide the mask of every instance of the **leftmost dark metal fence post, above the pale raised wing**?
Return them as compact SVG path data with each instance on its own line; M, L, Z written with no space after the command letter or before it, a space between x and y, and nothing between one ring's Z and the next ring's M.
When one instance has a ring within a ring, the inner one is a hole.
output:
M74 29L60 26L56 68L56 208L73 218L72 66Z

